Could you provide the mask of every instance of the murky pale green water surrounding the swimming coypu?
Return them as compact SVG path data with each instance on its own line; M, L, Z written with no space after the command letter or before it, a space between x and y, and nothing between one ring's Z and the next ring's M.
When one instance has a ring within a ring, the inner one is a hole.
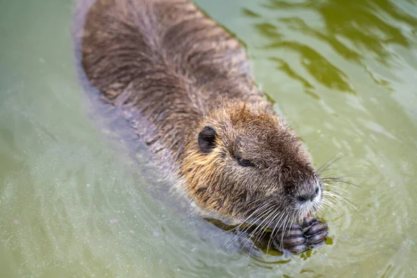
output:
M0 0L0 277L416 277L417 1L197 1L316 165L343 149L333 173L360 186L337 185L358 211L320 214L332 245L268 263L152 197L91 120L70 2Z

